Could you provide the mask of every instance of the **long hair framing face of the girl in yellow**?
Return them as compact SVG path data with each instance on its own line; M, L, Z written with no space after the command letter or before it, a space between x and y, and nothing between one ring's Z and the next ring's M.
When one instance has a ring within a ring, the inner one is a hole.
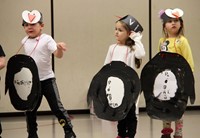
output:
M181 27L179 28L178 32L177 32L177 36L180 37L181 35L184 36L184 23L183 23L183 19L180 17L178 18L178 20L180 21L180 24L181 24ZM167 32L165 31L165 24L167 23L168 21L163 21L163 24L162 24L162 27L163 27L163 35L165 38L168 37L168 34Z

